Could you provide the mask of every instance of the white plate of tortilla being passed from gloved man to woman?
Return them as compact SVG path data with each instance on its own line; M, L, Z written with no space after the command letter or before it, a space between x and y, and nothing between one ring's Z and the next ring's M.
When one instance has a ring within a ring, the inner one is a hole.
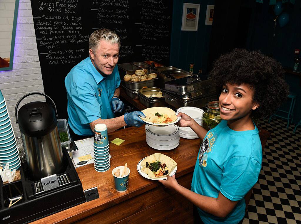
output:
M168 107L151 107L141 111L145 118L140 117L145 123L155 126L167 126L177 123L181 117Z

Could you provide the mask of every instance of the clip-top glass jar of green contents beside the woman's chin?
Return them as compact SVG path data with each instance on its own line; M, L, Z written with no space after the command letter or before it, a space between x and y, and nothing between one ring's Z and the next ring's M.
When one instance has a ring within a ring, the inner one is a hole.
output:
M206 107L207 111L203 112L203 128L210 130L222 121L220 116L219 101L209 101L206 104Z

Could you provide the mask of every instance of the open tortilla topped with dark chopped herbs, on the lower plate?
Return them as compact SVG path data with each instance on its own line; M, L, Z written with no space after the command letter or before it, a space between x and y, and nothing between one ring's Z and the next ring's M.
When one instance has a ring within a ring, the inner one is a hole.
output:
M157 172L153 172L149 169L149 167L153 164L160 161L161 164L165 164L166 167L162 168L161 170L158 170ZM170 157L163 155L162 153L154 153L142 160L141 162L141 171L146 173L151 178L159 178L169 175L172 170L177 166L177 163ZM161 171L161 174L160 174ZM158 173L159 172L159 173ZM162 174L162 173L165 174ZM156 176L157 175L157 176ZM158 176L160 175L160 176Z

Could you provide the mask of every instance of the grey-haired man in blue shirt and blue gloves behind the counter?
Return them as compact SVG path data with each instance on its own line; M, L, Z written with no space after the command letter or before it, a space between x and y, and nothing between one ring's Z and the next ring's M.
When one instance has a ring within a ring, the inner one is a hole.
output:
M90 56L74 66L65 78L68 123L73 140L92 136L96 124L106 124L108 132L131 125L140 127L145 117L134 111L116 117L124 104L119 99L117 69L120 41L109 29L94 31L89 38Z

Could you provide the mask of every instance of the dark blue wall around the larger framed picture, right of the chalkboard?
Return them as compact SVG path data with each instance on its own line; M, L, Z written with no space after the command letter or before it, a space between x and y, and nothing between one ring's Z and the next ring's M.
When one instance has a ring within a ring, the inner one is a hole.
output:
M197 31L181 31L184 0L176 0L173 5L172 35L170 47L170 66L189 71L194 63L194 74L199 69L206 72L210 43L211 25L205 25L207 5L214 5L214 0L185 1L200 4L200 16Z

